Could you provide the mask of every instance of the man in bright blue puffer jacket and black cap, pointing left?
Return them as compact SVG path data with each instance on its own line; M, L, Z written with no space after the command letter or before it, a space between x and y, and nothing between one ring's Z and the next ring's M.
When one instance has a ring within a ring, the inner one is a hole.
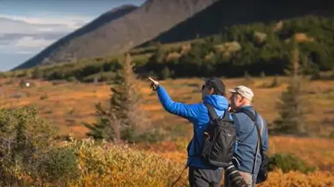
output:
M228 99L225 98L225 85L218 78L207 79L202 86L202 102L198 104L183 104L173 101L163 86L157 81L152 81L154 90L162 106L166 111L174 115L186 118L193 123L193 130L196 132L187 149L188 158L186 164L189 166L189 184L190 186L219 186L223 178L223 168L211 168L200 161L196 152L202 147L203 131L209 124L209 111L204 103L214 106L218 116L223 116L228 108ZM232 116L230 116L232 119ZM195 143L196 142L196 143ZM196 147L195 147L196 145Z

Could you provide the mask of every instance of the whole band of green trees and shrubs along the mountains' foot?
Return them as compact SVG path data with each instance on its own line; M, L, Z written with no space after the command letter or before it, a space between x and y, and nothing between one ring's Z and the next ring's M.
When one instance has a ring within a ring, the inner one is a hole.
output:
M133 49L138 74L161 79L186 76L235 77L250 74L283 74L292 40L298 43L305 73L318 76L331 70L334 61L334 17L305 16L270 24L230 26L219 35L175 44L154 44ZM38 77L48 80L112 80L120 67L119 56L39 67ZM33 76L30 70L8 76ZM37 71L37 70L36 70ZM30 73L29 73L30 72ZM36 76L36 75L35 75Z

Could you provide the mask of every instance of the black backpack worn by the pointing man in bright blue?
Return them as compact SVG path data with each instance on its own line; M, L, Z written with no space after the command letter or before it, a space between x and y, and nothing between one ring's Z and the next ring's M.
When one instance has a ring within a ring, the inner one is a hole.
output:
M234 123L229 119L230 112L225 110L223 117L218 117L214 106L205 103L211 118L210 124L204 131L203 146L199 153L200 158L212 167L228 167L234 153L234 143L237 132ZM196 131L194 131L196 133ZM196 142L195 134L195 142ZM195 150L196 150L195 145ZM195 151L196 152L196 151Z

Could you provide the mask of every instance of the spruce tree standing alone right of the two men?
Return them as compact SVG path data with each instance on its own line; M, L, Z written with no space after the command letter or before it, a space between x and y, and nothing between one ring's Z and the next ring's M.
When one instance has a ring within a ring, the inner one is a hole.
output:
M306 106L301 89L305 85L305 78L299 61L299 50L296 47L292 50L289 67L285 72L289 76L289 84L278 102L280 117L273 122L273 131L274 133L305 135Z

